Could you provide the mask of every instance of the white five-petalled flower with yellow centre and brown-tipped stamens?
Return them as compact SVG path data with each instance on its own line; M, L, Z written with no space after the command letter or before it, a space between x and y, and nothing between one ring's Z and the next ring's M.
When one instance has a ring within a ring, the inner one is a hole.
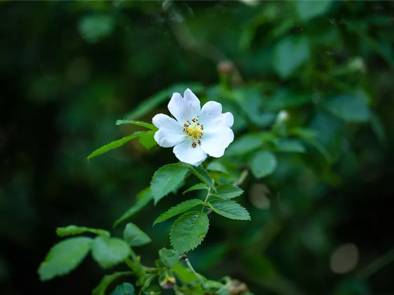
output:
M200 101L190 89L183 97L175 92L168 103L168 110L175 119L158 114L152 123L159 128L155 140L163 148L173 148L182 162L194 166L201 164L207 154L219 158L234 140L230 129L234 117L222 114L222 105L208 101L200 108Z

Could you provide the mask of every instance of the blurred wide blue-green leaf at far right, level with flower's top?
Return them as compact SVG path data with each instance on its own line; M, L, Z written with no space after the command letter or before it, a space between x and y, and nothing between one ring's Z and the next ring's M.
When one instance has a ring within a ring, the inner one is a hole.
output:
M366 122L370 119L366 97L362 93L331 97L325 105L332 115L348 122Z

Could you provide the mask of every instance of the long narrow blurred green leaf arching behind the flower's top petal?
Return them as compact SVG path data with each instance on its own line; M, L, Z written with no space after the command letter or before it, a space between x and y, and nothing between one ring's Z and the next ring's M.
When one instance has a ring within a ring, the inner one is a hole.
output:
M190 82L187 84L175 84L171 87L164 89L153 96L144 99L130 114L126 116L128 119L141 118L147 115L150 111L161 105L164 101L171 98L174 92L179 92L183 95L183 92L190 88L193 93L198 94L204 89L203 86L198 82Z

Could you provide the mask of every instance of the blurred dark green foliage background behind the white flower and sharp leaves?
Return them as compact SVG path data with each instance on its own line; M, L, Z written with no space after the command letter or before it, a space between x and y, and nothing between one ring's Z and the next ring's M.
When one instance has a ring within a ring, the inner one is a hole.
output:
M116 119L151 122L186 88L234 114L244 142L224 165L253 132L302 142L245 180L251 222L212 217L197 271L256 295L394 294L393 0L0 0L0 19L1 294L90 294L112 272L91 257L45 283L36 269L56 227L111 230L176 161L138 141L86 157L139 130ZM146 264L169 247L171 221L153 220L184 198L133 217Z

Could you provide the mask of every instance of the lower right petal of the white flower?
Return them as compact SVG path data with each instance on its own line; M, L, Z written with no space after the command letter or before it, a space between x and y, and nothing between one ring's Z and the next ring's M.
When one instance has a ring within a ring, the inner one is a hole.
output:
M234 133L228 127L219 127L204 131L201 148L211 157L219 158L234 140Z

